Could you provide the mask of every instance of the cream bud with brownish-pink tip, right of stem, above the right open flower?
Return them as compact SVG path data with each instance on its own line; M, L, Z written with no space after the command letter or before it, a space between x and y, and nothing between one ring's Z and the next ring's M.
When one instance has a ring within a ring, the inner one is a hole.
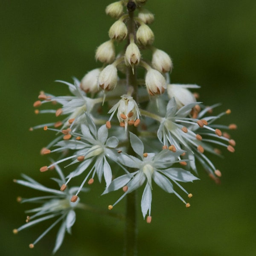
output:
M162 94L166 89L166 80L163 75L153 69L149 68L145 77L145 84L150 95Z

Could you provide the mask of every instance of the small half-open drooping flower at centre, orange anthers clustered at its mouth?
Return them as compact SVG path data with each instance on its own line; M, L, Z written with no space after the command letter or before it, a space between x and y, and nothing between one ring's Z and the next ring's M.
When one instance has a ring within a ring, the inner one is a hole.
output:
M110 121L113 118L113 115L117 111L117 119L120 123L120 126L125 127L127 130L128 125L134 125L137 127L140 124L140 110L136 101L133 97L128 95L122 95L122 99L119 100L108 113L112 113L108 122L106 122L106 127L111 128Z

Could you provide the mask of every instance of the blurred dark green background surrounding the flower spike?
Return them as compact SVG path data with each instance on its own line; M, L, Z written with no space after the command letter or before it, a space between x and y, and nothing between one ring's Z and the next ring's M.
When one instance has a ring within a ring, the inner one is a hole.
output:
M49 183L52 174L39 172L48 163L39 150L52 134L28 128L51 117L36 116L32 104L40 90L67 93L56 79L81 79L101 66L94 52L108 40L113 23L105 15L108 3L0 2L1 255L51 254L56 229L33 250L28 247L48 223L12 234L24 223L24 210L32 207L16 202L18 195L29 197L32 190L15 185L12 179L25 173ZM239 129L232 131L236 152L225 151L224 159L215 159L223 174L221 185L209 180L203 170L200 181L185 185L194 195L192 207L186 209L174 195L154 188L152 223L146 224L138 212L138 255L255 256L256 1L148 0L145 7L155 14L154 45L173 59L172 82L201 85L201 101L221 102L216 113L230 108L232 114L221 122L236 123ZM95 184L94 193L84 200L106 207L119 197L119 193L99 197L102 190L103 185ZM115 210L122 212L123 207L124 202ZM57 256L122 255L122 221L90 212L77 215L73 235L66 236Z

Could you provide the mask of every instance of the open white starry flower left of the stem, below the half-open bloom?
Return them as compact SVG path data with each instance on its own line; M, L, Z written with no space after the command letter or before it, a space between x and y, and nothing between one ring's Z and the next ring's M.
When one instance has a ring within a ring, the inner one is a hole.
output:
M88 177L91 176L88 184L93 183L95 174L97 174L100 182L102 176L104 176L106 185L109 186L112 180L112 172L108 160L116 161L118 156L117 150L115 149L119 143L118 139L114 136L108 138L108 129L105 125L102 125L97 131L93 119L91 119L87 113L85 113L85 116L87 122L86 124L81 125L81 134L69 131L69 137L67 139L64 138L64 140L61 140L54 145L58 148L51 151L48 149L48 153L62 152L69 149L75 150L75 152L69 157L60 159L49 166L43 166L40 169L41 172L45 172L52 166L71 159L73 159L73 162L69 165L80 163L79 166L67 176L67 181L65 182L65 185L67 185L73 177L81 175L84 171L88 171L80 188L76 192L76 196L79 194ZM49 130L58 131L55 129ZM93 166L88 170L88 167L91 164Z

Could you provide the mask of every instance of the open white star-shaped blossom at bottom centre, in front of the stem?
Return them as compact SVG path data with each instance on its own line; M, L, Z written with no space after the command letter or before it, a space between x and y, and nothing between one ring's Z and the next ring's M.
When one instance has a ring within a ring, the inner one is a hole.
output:
M151 200L152 200L152 180L160 186L163 190L168 193L174 193L189 207L190 204L174 190L172 182L179 186L188 197L192 197L192 194L186 192L186 190L180 186L178 181L189 182L193 180L198 180L197 177L192 175L190 172L185 171L181 168L171 168L173 163L180 162L178 156L183 153L183 151L172 152L168 149L160 151L158 154L145 153L143 142L133 133L130 132L131 147L134 152L139 156L139 158L122 154L120 158L120 163L124 166L128 166L136 169L135 172L127 173L120 177L114 179L110 186L103 192L103 194L123 188L125 192L113 205L109 206L112 209L122 198L125 197L127 193L138 189L145 182L145 188L141 199L141 210L143 217L148 213L147 222L151 221ZM172 181L172 182L171 182Z

